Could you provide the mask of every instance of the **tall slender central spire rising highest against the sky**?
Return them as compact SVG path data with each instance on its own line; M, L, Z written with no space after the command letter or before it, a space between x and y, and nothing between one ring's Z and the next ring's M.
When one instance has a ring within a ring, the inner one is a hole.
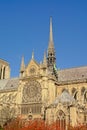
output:
M54 42L53 42L52 17L51 17L50 18L49 45L48 45L48 50L47 50L47 66L51 73L53 72L55 63L56 63L56 57L55 57L55 49L54 49Z

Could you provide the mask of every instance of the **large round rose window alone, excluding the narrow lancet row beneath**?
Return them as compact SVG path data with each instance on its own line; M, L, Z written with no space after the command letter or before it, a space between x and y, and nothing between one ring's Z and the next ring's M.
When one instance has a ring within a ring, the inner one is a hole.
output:
M23 88L23 103L41 102L41 85L37 81L29 81Z

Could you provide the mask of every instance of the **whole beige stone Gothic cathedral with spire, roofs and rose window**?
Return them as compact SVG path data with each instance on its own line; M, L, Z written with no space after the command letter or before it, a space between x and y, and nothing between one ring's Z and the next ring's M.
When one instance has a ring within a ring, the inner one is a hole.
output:
M27 65L22 57L19 77L10 78L9 63L0 60L0 124L17 116L57 121L64 129L87 123L87 66L57 70L52 18L42 63L34 53Z

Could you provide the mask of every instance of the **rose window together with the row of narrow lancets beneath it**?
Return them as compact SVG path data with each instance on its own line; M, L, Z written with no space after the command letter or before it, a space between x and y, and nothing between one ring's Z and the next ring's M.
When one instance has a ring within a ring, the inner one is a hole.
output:
M22 94L21 113L28 114L31 109L32 113L41 113L42 107L42 89L39 82L31 80L24 85Z

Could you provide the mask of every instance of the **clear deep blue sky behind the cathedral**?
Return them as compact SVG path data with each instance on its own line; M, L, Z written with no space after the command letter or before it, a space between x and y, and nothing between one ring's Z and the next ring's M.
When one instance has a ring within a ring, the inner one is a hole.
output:
M87 0L0 0L0 58L10 63L12 77L19 75L22 55L27 65L33 49L42 61L50 16L57 67L87 65Z

